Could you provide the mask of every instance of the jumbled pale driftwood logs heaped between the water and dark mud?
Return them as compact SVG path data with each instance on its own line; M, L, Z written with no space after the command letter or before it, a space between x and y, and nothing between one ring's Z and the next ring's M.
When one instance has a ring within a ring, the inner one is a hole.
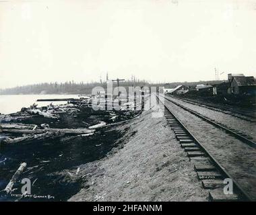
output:
M79 103L67 103L63 105L53 105L52 103L46 107L37 107L34 103L30 105L30 107L22 107L21 112L16 114L10 114L8 116L1 115L0 120L2 124L0 124L0 133L3 134L0 136L2 142L5 143L18 143L18 142L28 142L32 140L44 140L49 138L58 138L61 136L90 136L94 134L95 130L101 128L109 128L111 126L117 126L127 120L136 116L137 112L135 111L127 111L127 110L119 110L119 111L108 111L104 112L95 111L94 114L99 114L100 116L104 116L106 122L98 121L98 124L88 124L87 122L82 121L86 128L50 128L49 124L22 124L18 123L23 118L34 118L34 116L43 116L46 118L46 122L53 123L52 120L61 120L65 118L67 115L71 117L76 117L81 110L77 107L81 108L83 99L79 99ZM84 102L88 104L88 100ZM91 104L91 102L90 102ZM126 107L128 103L122 105L122 107ZM133 102L129 103L129 106L133 106ZM122 108L121 108L122 109ZM64 114L64 115L62 115ZM50 121L48 120L50 119ZM48 120L48 121L47 121ZM11 123L11 122L15 123ZM120 122L121 121L121 122ZM31 121L30 121L31 122ZM32 122L37 122L33 121ZM41 122L41 121L40 121ZM42 123L42 122L41 122Z

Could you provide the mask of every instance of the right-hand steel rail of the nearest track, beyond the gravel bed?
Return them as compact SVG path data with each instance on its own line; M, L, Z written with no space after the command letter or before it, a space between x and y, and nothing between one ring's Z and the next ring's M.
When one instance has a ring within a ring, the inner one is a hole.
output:
M162 96L162 95L161 95ZM248 144L249 146L255 148L256 147L256 142L253 142L253 140L250 140L249 136L247 136L246 134L243 134L239 131L236 131L232 128L227 128L224 124L222 123L218 123L215 122L215 120L212 120L206 116L203 116L202 114L199 114L197 112L195 112L194 110L191 110L188 107L185 107L184 105L181 105L180 103L177 103L176 101L172 101L171 99L169 99L168 97L164 97L166 100L174 103L175 105L178 105L179 107L183 108L183 110L186 110L187 112L190 112L191 114L205 120L206 122L209 122L210 124L216 126L217 128L221 128L222 130L225 130L225 132L227 132L228 134L231 134L232 136L235 136L236 138L238 138L239 140L241 140L242 142L245 142L246 144Z

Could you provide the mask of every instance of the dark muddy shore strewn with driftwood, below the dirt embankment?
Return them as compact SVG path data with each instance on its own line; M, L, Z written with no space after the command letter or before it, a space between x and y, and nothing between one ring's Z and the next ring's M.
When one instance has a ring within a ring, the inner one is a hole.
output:
M13 187L13 196L1 193L2 201L17 200L15 194L20 193L24 177L31 180L34 195L55 198L28 196L18 201L66 201L81 187L76 167L105 157L125 132L116 128L140 114L92 111L83 104L50 105L46 112L44 109L24 108L24 112L1 116L1 190L20 162L26 163L24 173ZM74 173L70 170L73 168Z

